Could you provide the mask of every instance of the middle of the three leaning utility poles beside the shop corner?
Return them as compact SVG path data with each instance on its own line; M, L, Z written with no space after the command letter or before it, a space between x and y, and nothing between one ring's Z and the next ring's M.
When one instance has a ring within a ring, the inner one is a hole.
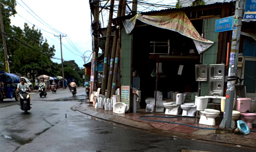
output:
M118 12L117 12L117 17L120 16L121 11L122 11L122 4L123 0L119 0L119 5L118 5ZM111 96L111 86L112 86L112 79L113 79L113 70L114 70L114 60L116 57L116 45L117 45L117 39L118 39L118 29L114 31L114 40L113 40L113 45L112 45L112 54L110 58L110 67L109 67L109 73L108 73L108 87L107 87L107 95L106 98L110 98Z

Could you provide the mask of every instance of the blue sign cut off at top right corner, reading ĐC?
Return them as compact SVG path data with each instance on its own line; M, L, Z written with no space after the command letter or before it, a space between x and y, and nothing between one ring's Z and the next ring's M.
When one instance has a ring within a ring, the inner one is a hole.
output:
M256 19L256 0L246 0L244 19Z

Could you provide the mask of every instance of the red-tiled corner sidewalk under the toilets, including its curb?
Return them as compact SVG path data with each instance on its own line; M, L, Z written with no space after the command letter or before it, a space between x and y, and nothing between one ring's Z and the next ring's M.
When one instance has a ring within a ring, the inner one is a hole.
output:
M215 130L199 129L189 127L185 125L178 125L166 122L152 122L140 119L141 116L164 116L168 117L171 115L164 115L162 112L149 113L145 109L137 109L137 113L126 113L126 114L115 114L112 111L105 111L104 109L95 109L90 103L81 103L74 107L81 113L91 115L93 117L104 119L106 121L112 121L129 127L135 127L150 131L152 133L165 134L168 136L174 136L179 138L187 138L192 140L200 140L207 142L217 142L228 145L245 146L244 148L256 150L256 132L250 132L250 134L244 136L243 134L216 134ZM193 125L197 127L205 128L218 128L218 126L200 125L194 122L194 118L180 117L180 118L146 118L155 121L168 121L175 123L183 123L187 125ZM199 121L199 119L198 119ZM219 125L220 120L216 119L216 125ZM254 127L251 130L256 130Z

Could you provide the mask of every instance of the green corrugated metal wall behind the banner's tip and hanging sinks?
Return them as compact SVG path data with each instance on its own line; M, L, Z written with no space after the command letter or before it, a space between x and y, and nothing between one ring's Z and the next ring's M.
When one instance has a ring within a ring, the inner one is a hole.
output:
M215 20L219 18L208 18L204 19L204 24L203 24L203 30L204 30L204 39L208 39L210 41L214 41L215 44L204 51L202 57L203 57L203 62L202 64L216 64L217 60L217 53L218 53L218 36L219 33L215 33ZM209 82L202 82L201 83L201 95L200 96L205 96L209 94Z

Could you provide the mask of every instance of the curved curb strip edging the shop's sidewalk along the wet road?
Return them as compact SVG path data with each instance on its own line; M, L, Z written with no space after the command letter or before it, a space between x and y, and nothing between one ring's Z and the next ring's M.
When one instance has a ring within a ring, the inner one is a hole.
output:
M149 131L150 133L157 133L168 135L176 138L186 138L191 140L198 140L204 142L215 142L216 144L229 144L231 146L234 145L241 145L241 146L248 146L248 149L256 149L256 139L248 139L241 135L236 134L186 134L186 133L179 133L174 131L166 131L162 129L157 129L148 123L143 123L135 120L128 119L126 117L122 117L122 114L118 115L111 115L107 113L100 113L88 108L89 103L81 103L80 105L76 105L74 108L86 115L90 115L92 117L96 117L98 119L104 119L106 121L111 121L114 123L118 123L121 125L126 125L129 127L134 127L137 129L143 129ZM246 148L246 147L244 147Z

